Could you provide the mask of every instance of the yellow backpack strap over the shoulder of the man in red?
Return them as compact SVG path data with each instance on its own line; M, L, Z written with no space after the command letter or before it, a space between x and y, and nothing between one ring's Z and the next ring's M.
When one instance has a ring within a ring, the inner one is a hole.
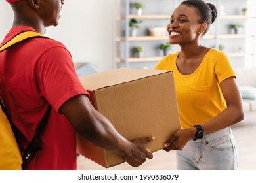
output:
M25 41L27 39L32 39L34 37L47 38L45 35L42 35L40 33L34 32L34 31L24 31L24 32L19 33L18 35L12 37L12 39L10 39L8 42L3 44L3 46L0 47L0 52L2 52L3 50L6 50L7 48L10 48L11 46L13 46L19 42Z

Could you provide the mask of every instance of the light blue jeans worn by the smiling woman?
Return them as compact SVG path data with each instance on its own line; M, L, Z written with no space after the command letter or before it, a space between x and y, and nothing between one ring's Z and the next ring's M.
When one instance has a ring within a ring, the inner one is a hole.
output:
M238 169L236 142L230 127L190 140L177 151L178 170L234 170Z

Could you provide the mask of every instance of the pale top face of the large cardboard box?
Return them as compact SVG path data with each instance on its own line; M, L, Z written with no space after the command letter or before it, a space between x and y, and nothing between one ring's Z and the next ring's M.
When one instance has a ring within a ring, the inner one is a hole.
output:
M159 75L166 72L171 71L119 68L93 75L81 76L79 77L79 80L83 83L86 90L94 91L107 86L114 86L116 84L130 82L132 80Z

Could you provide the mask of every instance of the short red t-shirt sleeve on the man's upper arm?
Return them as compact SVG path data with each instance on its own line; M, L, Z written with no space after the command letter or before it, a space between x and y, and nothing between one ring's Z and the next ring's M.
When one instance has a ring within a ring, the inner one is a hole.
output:
M56 111L75 95L89 95L75 73L70 52L62 46L43 52L37 63L37 77L43 97Z

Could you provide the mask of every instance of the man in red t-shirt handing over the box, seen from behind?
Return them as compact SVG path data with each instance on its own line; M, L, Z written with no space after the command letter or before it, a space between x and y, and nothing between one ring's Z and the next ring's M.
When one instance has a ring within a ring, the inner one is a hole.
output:
M14 11L14 22L1 45L23 31L44 34L46 27L58 25L64 4L64 0L7 2ZM21 132L22 154L47 108L52 107L36 141L42 150L24 162L23 169L76 169L75 133L123 156L133 167L152 158L144 144L154 138L127 141L93 108L89 93L77 78L72 56L62 43L46 38L30 39L1 52L0 60L1 99Z

